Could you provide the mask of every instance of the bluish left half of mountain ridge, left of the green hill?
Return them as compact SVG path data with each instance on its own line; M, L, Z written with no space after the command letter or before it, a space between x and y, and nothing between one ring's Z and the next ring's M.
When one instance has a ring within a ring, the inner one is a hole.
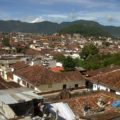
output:
M51 34L58 31L59 24L52 22L26 23L21 21L0 21L0 31L23 32L23 33L45 33Z

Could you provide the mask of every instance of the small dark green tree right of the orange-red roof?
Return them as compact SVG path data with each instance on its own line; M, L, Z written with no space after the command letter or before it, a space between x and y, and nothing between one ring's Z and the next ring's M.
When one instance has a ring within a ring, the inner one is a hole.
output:
M65 71L75 70L76 64L75 64L74 59L72 59L71 57L65 58L63 61L63 67Z

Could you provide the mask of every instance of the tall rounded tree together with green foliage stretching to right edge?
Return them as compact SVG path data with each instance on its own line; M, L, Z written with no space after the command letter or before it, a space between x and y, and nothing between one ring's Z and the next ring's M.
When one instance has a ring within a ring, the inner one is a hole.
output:
M79 60L79 66L86 69L98 69L109 65L120 65L120 53L103 55L92 44L86 45L80 53L83 60Z

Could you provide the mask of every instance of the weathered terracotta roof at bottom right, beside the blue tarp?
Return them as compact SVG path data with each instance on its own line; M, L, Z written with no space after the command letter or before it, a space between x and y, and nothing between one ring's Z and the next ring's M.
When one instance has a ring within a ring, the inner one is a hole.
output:
M91 94L76 97L76 98L66 99L63 102L67 103L70 106L70 108L73 110L76 116L83 117L83 108L85 105L89 105L90 110L93 113L95 112L96 114L98 113L97 111L99 106L97 102L101 98L104 100L105 104L107 105L105 107L105 111L103 112L103 114L113 110L113 108L111 107L111 103L114 100L117 100L117 98L113 96L111 93L107 93L107 92L91 93ZM103 114L101 114L101 116L103 116ZM97 119L94 119L94 120L97 120ZM104 119L100 119L100 120L104 120Z

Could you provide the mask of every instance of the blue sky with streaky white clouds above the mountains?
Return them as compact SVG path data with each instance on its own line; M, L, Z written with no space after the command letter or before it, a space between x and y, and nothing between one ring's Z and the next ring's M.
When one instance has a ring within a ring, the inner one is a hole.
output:
M120 26L120 0L0 0L0 20L93 20Z

